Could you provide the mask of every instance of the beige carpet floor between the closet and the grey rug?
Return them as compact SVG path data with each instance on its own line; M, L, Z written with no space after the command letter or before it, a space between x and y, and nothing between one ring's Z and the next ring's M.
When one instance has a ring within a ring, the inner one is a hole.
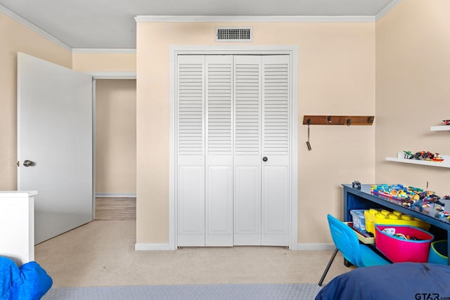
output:
M35 247L53 287L317 283L332 251L283 247L135 251L136 221L94 221ZM326 282L351 270L340 254Z

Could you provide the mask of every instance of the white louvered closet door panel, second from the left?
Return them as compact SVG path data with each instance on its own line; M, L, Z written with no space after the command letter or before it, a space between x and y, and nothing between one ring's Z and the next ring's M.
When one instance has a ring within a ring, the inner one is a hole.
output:
M205 56L205 245L233 246L233 56Z

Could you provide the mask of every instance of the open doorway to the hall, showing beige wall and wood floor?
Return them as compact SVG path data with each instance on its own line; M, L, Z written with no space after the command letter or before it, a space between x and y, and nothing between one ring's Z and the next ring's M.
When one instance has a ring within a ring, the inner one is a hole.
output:
M95 80L95 220L136 219L136 79Z

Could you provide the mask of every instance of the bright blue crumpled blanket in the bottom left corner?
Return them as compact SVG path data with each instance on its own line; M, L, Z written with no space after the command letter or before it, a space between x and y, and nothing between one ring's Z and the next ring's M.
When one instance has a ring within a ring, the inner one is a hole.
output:
M53 285L53 280L35 261L20 268L12 259L0 256L0 299L35 300Z

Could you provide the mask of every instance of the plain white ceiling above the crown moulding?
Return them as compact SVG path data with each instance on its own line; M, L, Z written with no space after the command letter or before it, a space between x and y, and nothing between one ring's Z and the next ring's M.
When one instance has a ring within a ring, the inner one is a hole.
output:
M136 15L375 17L396 2L399 0L0 0L0 12L25 19L70 48L133 49Z

